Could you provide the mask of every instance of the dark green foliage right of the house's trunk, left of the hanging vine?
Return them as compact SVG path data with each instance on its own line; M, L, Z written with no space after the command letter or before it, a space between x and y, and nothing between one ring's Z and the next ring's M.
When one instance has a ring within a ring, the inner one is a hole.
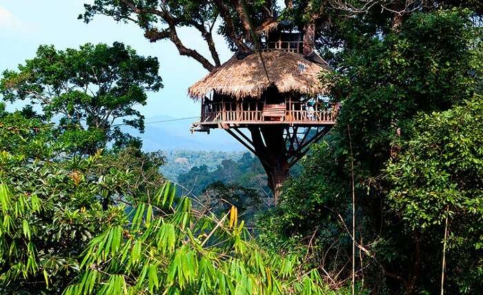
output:
M342 223L351 223L351 183L337 165L332 136L326 140L314 144L301 160L301 174L284 183L279 205L258 216L257 241L269 249L295 254L306 265L344 280L351 276L351 238ZM364 228L363 219L357 218ZM363 258L364 263L371 262Z

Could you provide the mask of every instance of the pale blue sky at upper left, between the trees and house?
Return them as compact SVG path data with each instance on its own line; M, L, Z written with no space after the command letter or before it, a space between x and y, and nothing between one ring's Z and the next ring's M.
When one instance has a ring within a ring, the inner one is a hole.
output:
M199 104L188 99L187 90L207 71L194 59L179 56L170 41L150 43L134 24L116 23L104 16L89 24L77 19L83 3L92 0L0 0L0 72L17 68L19 63L34 57L41 44L53 44L57 49L77 48L83 43L121 41L138 54L159 59L159 74L164 89L148 94L148 104L139 108L152 116L188 117L199 115ZM179 37L185 45L208 57L208 48L196 30L183 28ZM231 53L222 37L215 37L222 61ZM10 109L14 108L10 106ZM189 122L187 122L189 128Z

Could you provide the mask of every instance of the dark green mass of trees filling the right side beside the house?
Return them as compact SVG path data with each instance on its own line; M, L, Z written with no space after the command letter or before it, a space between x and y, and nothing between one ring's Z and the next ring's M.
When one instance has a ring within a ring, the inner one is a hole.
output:
M259 226L273 232L260 231L259 240L304 256L328 276L350 279L353 172L355 238L364 248L356 247L356 269L363 269L358 276L365 284L381 294L438 292L440 223L444 206L451 203L458 208L450 209L452 216L459 216L451 221L454 230L467 227L474 236L461 230L450 238L453 247L462 245L456 241L464 243L466 254L449 252L455 268L446 274L444 287L475 293L481 280L481 261L474 259L481 192L467 185L480 185L482 155L475 152L479 131L470 136L464 130L481 129L480 123L471 123L480 120L475 115L479 107L461 107L472 115L455 108L482 89L481 28L473 23L474 14L454 9L408 13L393 30L391 14L380 10L350 18L346 12L330 13L334 22L324 30L324 41L336 71L321 79L331 85L331 99L342 102L342 112L326 142L313 146L301 176L286 183L281 204L260 219ZM420 119L421 112L435 111L443 112ZM418 124L424 129L417 131ZM460 148L467 149L466 156L457 154ZM397 161L386 170L401 149L412 153L404 154L404 164ZM397 179L404 175L413 178ZM448 194L430 198L443 191ZM467 261L471 256L473 261Z

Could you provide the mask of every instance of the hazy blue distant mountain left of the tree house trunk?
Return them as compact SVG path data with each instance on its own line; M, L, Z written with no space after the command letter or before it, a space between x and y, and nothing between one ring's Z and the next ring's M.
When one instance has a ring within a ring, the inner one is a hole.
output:
M146 129L143 134L132 128L123 128L123 131L139 136L143 141L143 150L146 152L155 150L239 152L245 150L243 145L224 130L212 130L210 134L204 132L193 132L192 134L190 132L191 123L196 119L178 120L171 116L160 115L146 118L144 121Z

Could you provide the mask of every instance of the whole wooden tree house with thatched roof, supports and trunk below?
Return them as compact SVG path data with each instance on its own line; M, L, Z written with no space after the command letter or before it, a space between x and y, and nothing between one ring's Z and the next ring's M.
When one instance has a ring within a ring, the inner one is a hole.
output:
M290 167L335 124L338 105L329 103L319 74L327 63L283 23L257 30L259 48L235 54L188 90L201 101L193 131L226 130L264 166L275 204ZM248 132L243 132L246 129Z

